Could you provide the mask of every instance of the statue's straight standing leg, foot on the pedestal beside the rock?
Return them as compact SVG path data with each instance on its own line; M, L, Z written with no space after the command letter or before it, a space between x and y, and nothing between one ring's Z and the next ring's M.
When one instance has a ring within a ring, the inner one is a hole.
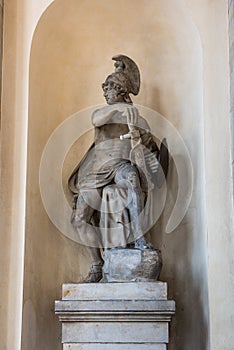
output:
M102 278L103 259L100 252L101 239L98 227L91 224L95 209L88 205L87 197L95 196L92 191L83 192L77 198L73 209L72 225L79 234L80 241L86 246L91 259L91 267L84 282L99 282Z

